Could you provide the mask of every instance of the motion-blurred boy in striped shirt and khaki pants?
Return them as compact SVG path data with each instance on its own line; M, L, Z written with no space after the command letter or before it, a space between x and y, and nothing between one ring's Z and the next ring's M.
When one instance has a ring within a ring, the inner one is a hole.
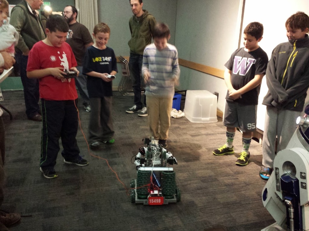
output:
M174 85L179 84L180 76L178 52L175 46L167 43L171 34L166 24L156 24L152 37L154 43L145 48L142 65L148 123L151 136L167 148Z

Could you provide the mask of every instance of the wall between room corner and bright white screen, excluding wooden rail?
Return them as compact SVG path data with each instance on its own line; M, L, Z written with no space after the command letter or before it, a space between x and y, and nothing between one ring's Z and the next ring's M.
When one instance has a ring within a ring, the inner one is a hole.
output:
M175 45L179 58L223 70L238 48L241 3L240 0L178 0ZM223 79L181 67L180 88L217 91L217 107L224 110L227 88Z

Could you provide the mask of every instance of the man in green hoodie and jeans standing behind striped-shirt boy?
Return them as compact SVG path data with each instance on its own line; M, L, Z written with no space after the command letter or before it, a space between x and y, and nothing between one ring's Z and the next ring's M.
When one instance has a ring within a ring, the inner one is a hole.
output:
M138 112L139 116L147 116L146 96L144 95L144 106L141 102L141 86L143 81L141 69L145 47L151 43L151 34L155 27L155 18L143 10L142 0L129 0L133 16L129 19L131 39L128 42L130 47L129 71L132 79L134 93L134 105L126 110L127 113Z

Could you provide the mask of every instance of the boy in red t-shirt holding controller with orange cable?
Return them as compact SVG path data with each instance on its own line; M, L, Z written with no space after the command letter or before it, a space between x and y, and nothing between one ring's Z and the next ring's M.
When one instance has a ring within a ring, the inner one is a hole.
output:
M46 22L46 39L32 47L27 65L28 78L39 79L42 103L42 138L40 171L46 178L55 178L54 170L61 137L61 155L67 164L88 164L79 156L77 91L75 79L66 78L65 71L78 71L72 49L66 43L69 26L60 15L50 15Z

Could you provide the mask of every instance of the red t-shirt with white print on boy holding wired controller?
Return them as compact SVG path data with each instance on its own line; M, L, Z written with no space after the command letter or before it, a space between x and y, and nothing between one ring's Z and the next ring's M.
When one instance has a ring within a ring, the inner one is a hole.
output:
M61 47L49 46L42 41L33 45L28 57L27 71L40 70L50 67L62 67L69 70L77 63L68 43ZM39 79L40 98L46 100L77 99L75 79L57 79L52 75Z

